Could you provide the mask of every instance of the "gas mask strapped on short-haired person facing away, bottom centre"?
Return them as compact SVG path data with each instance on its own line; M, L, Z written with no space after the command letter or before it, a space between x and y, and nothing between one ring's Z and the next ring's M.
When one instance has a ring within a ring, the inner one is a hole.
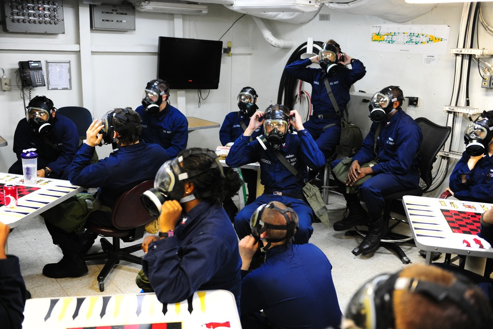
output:
M262 220L262 214L265 209L274 209L280 212L282 216L284 216L284 219L286 219L286 225L274 225L274 224L265 223ZM291 216L288 216L287 215L288 213L290 213ZM286 207L284 209L281 209L279 207L276 207L272 202L261 205L253 212L253 214L250 217L251 236L255 238L255 243L257 243L259 240L267 242L267 244L261 248L262 252L267 251L267 249L269 249L272 242L281 242L286 239L294 240L293 236L295 233L295 229L298 229L298 225L296 225L296 222L294 220L295 216L296 213L291 208ZM286 231L286 235L279 239L260 238L260 235L263 232L267 231L267 229Z

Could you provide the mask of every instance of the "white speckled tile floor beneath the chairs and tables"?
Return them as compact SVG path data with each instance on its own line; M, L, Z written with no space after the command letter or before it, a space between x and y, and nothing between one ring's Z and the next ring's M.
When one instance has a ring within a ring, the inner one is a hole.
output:
M330 194L328 207L333 209L329 212L331 224L342 218L343 210L340 208L344 205L341 195ZM405 229L410 233L408 227ZM396 272L406 266L395 254L382 247L372 255L352 255L352 249L357 247L361 240L359 236L348 237L345 232L336 232L332 227L326 229L321 223L314 224L314 234L310 239L311 243L327 255L333 265L332 276L343 311L352 294L367 280L377 274ZM98 241L99 239L91 248L91 253L101 250ZM128 244L121 245L123 247ZM401 244L401 247L412 263L424 263L424 258L418 254L418 248L409 244ZM99 291L97 283L97 276L103 268L104 261L87 262L89 274L81 278L51 279L43 276L43 266L59 261L62 252L52 244L51 236L40 216L21 224L10 233L8 251L20 258L22 276L34 298L140 292L135 278L141 266L127 261L122 261L109 273L105 280L104 292ZM143 252L135 255L142 256Z

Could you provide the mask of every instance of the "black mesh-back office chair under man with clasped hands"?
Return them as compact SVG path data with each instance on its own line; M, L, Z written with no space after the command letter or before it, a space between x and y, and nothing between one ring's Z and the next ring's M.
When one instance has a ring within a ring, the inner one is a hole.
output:
M392 225L389 226L387 230L387 235L380 240L381 246L388 247L392 251L394 251L397 256L401 258L401 261L404 264L409 264L411 260L406 256L404 251L397 245L397 243L409 242L413 243L412 236L406 236L399 233L392 232L398 224L404 222L408 223L407 220L404 219L395 219L390 216L390 206L393 200L402 199L404 195L416 195L422 196L424 192L431 186L433 181L433 177L431 175L431 170L433 169L433 163L436 161L436 156L440 149L445 145L445 142L450 136L452 131L451 127L448 126L440 126L430 120L420 117L415 120L419 126L421 127L421 131L423 133L423 144L420 148L421 162L420 162L420 172L422 184L416 188L408 189L396 193L386 194L384 195L385 199L385 208L383 218L389 223L390 220L395 221ZM422 186L423 185L423 186ZM356 231L366 236L365 231L361 231L356 227Z

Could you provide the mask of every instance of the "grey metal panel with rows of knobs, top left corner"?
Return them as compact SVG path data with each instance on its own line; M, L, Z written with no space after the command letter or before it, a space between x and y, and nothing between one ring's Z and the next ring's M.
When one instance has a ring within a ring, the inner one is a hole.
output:
M4 32L64 34L63 2L1 0Z

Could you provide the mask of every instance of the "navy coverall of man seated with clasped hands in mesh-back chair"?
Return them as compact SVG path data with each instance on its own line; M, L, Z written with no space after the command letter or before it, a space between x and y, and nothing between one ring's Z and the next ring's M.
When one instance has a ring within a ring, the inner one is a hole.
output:
M420 126L399 108L388 121L382 122L375 154L374 139L379 124L374 122L371 125L361 149L352 158L352 161L358 160L360 165L378 158L378 163L372 167L374 176L359 188L372 220L382 217L384 194L415 188L420 183L418 152L423 142ZM333 161L331 167L334 168L340 161ZM345 193L346 200L348 196Z

